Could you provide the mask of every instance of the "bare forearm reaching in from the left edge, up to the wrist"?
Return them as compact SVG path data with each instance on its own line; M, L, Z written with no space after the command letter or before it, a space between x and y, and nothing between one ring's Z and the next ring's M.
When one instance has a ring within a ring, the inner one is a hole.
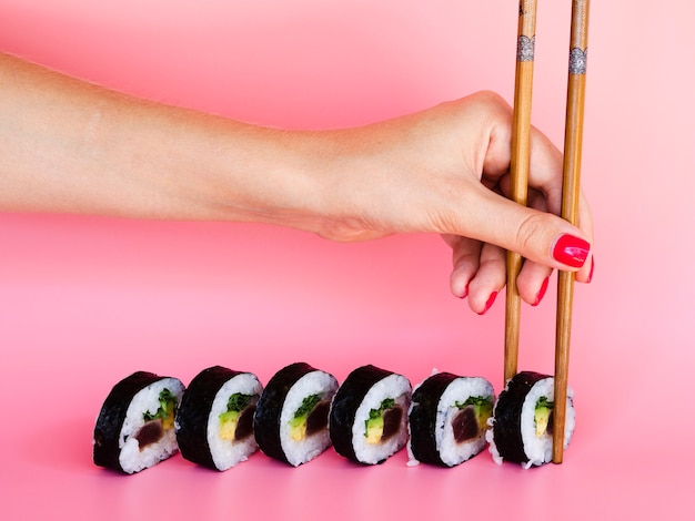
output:
M321 232L319 140L132 99L0 54L0 208Z

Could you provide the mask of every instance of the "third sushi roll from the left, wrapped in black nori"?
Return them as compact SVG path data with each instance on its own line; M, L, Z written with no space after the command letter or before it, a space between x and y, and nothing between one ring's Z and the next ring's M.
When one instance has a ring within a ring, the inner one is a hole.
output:
M328 449L329 408L336 390L333 375L309 364L280 369L263 389L253 419L263 453L298 467Z

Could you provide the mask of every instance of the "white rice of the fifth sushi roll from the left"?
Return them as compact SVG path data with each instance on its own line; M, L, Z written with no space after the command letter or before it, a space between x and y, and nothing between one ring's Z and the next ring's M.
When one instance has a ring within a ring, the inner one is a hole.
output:
M457 442L454 436L453 420L461 411L461 409L456 407L456 402L464 403L471 397L490 398L494 403L494 388L485 378L460 377L453 380L440 397L436 409L434 438L440 459L449 467L460 464L471 459L485 449L487 445L484 430L481 430L477 438L462 443ZM415 406L415 403L411 405L411 410L413 406ZM407 442L407 464L410 467L417 464L419 462L413 456L411 440Z

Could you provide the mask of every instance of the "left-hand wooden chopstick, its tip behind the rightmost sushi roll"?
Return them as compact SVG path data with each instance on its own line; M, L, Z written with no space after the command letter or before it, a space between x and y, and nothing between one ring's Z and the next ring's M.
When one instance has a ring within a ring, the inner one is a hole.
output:
M526 205L528 194L528 162L531 156L531 98L533 91L533 59L536 30L536 0L521 0L514 79L514 112L512 122L511 198ZM516 375L521 297L516 277L523 259L515 252L506 254L506 314L504 323L504 381Z

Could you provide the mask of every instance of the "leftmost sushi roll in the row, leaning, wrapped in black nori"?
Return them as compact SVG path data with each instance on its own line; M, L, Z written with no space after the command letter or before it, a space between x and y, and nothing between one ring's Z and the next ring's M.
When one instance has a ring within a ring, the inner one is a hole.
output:
M174 417L183 390L178 378L145 371L113 386L94 427L94 463L131 474L177 452Z

